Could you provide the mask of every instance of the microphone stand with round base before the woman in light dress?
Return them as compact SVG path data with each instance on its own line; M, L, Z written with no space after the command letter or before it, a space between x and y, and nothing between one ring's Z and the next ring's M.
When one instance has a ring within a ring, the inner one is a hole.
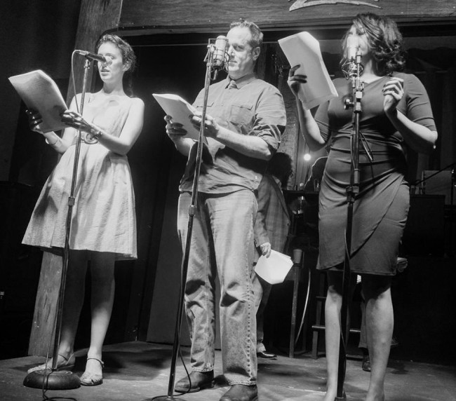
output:
M87 77L88 69L90 69L90 60L86 59L84 63L84 74L83 74L83 86L81 93L81 107L79 113L83 114L84 99L86 97L86 86L87 86ZM78 130L78 135L76 137L76 149L74 151L74 163L73 163L73 173L72 173L72 183L71 189L68 197L68 210L67 210L67 220L65 222L65 246L63 248L63 258L62 258L62 275L60 277L60 289L58 294L57 301L57 313L55 317L55 336L54 336L54 348L53 348L53 363L51 369L45 368L36 370L27 376L24 379L24 386L33 387L33 388L46 388L48 390L70 390L72 388L81 387L81 379L77 374L67 371L67 370L58 370L58 349L60 345L60 334L62 332L62 311L63 311L63 302L65 299L65 284L67 282L67 270L69 262L69 236L71 233L72 226L72 212L73 206L75 203L74 198L74 189L76 187L76 178L78 174L78 165L79 165L79 154L81 151L81 131Z

